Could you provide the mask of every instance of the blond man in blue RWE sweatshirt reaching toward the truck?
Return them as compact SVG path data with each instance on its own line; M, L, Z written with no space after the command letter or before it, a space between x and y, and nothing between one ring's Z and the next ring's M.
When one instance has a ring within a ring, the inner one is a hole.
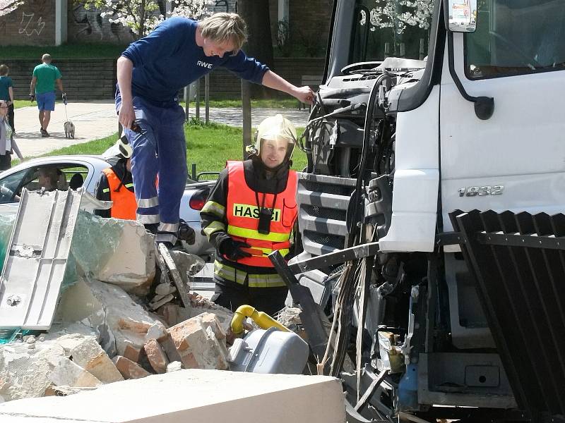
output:
M246 25L236 13L201 21L169 18L121 54L117 62L116 108L133 147L131 172L137 220L174 245L179 207L188 176L184 110L177 93L218 67L309 103L310 87L296 87L241 50ZM130 130L133 122L141 131ZM155 177L159 174L159 191ZM158 226L157 226L158 225Z

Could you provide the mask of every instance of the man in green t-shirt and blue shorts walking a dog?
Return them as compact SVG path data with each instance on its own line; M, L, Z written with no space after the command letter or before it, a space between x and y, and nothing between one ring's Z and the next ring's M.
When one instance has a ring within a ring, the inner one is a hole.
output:
M42 63L33 69L33 78L30 84L30 100L37 99L37 109L40 109L41 136L49 137L47 125L51 120L51 112L55 110L55 82L63 93L62 99L66 102L66 93L63 90L61 72L51 64L51 56L44 54Z

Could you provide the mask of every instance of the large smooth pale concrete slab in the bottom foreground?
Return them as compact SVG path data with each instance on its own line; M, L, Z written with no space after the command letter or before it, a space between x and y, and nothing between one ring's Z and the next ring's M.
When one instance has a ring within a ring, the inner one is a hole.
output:
M190 369L0 405L2 423L18 418L26 423L343 423L345 405L340 381L330 376Z

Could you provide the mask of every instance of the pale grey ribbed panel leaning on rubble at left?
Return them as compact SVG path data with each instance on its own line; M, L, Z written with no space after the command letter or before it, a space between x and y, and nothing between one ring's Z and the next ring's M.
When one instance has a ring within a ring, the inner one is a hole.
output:
M23 190L0 276L0 327L51 326L82 190Z

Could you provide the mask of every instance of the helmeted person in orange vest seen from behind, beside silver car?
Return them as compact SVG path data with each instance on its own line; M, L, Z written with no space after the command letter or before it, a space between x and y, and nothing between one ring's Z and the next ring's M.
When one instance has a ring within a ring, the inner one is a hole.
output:
M101 217L136 220L137 203L131 176L131 146L118 140L105 152L108 153L112 154L108 159L112 166L100 173L95 195L98 200L111 200L114 204L111 209L97 209L95 213Z

